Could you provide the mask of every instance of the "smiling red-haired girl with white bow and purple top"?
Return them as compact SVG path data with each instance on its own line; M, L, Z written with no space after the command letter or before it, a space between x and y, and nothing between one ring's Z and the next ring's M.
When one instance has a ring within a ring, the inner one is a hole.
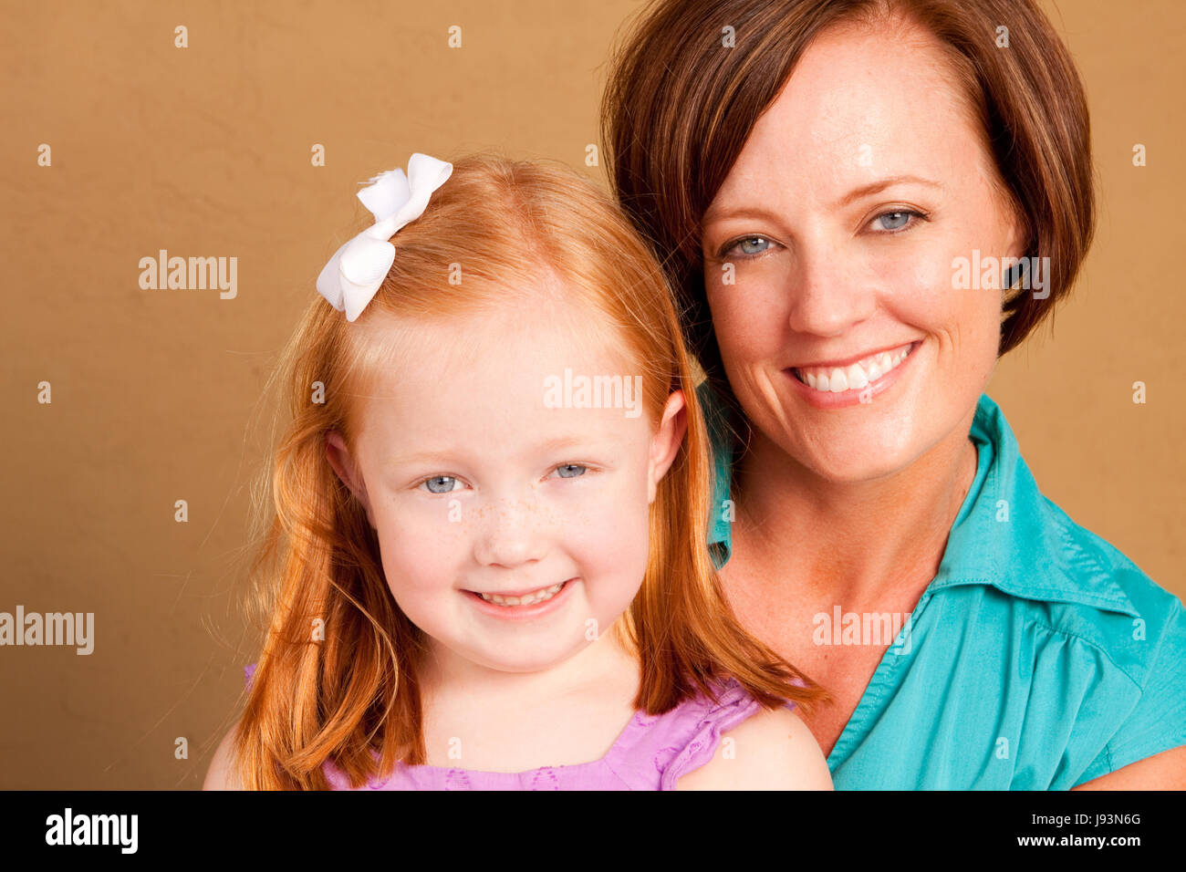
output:
M645 243L567 170L372 182L285 355L270 628L206 787L830 789L823 692L718 585Z

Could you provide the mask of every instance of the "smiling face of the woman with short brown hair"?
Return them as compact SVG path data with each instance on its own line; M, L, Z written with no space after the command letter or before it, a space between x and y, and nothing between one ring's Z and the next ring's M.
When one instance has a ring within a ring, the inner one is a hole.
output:
M995 178L925 31L834 28L806 50L702 224L729 383L793 460L868 480L964 427L1002 298L952 287L952 262L1022 254Z

